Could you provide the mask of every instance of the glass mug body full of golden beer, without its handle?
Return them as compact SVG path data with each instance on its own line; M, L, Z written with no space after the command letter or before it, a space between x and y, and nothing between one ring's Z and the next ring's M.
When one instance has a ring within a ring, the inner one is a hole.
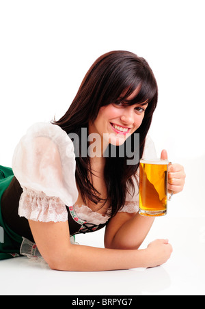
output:
M139 213L162 216L167 213L167 160L141 159L139 162Z

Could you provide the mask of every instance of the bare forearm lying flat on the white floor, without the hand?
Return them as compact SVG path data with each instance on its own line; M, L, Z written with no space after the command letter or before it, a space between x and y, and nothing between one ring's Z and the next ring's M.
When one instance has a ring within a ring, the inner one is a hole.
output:
M109 271L149 267L148 250L113 250L72 245L63 257L50 260L51 269L60 271Z

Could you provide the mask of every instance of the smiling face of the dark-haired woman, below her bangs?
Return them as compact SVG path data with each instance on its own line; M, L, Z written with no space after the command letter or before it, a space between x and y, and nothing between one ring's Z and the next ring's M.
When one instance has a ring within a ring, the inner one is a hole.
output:
M136 89L128 100L134 98L138 91ZM120 146L139 128L147 107L146 102L131 106L123 103L103 106L96 120L89 125L89 133L98 133L107 144Z

